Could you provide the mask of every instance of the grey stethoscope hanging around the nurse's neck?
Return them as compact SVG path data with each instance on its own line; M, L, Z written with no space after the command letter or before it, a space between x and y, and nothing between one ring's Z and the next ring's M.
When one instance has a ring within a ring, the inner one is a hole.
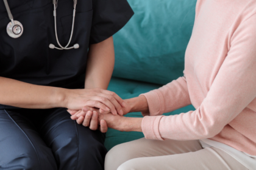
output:
M74 11L73 11L73 22L72 22L72 30L71 30L71 35L70 35L70 38L69 38L69 41L68 41L68 44L63 47L62 45L60 45L60 42L59 42L59 39L58 39L58 35L57 35L57 26L56 26L56 9L57 9L57 3L58 3L58 0L52 0L52 4L54 4L54 27L55 27L55 36L56 36L56 40L57 40L57 43L59 44L60 48L58 47L55 47L54 44L49 44L49 48L50 49L58 49L58 50L69 50L69 49L78 49L79 48L79 44L74 44L73 47L68 47L70 42L71 42L71 39L72 39L72 36L73 36L73 31L74 31L74 18L75 18L75 15L76 15L76 4L77 4L77 0L74 0ZM12 16L12 13L10 11L10 8L9 8L9 4L7 2L7 0L4 0L4 5L5 5L5 8L7 10L7 13L8 13L8 16L9 16L9 19L11 22L9 22L9 24L7 25L7 33L10 37L12 38L19 38L22 34L23 34L23 25L21 24L21 22L19 21L15 21L13 20L13 16Z

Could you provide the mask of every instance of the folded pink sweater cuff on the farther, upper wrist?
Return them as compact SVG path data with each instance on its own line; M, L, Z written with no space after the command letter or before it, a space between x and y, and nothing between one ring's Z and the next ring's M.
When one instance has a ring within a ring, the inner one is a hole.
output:
M146 94L141 95L144 95L144 97L146 97L149 106L149 112L141 112L143 117L147 115L158 115L160 113L160 99L157 95L157 92L155 92L155 90L152 90Z

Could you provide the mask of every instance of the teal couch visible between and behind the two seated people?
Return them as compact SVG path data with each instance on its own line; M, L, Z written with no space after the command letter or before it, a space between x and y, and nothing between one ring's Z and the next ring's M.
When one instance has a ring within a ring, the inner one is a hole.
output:
M135 15L114 35L115 69L108 90L121 98L137 97L183 75L196 0L128 0ZM165 115L194 110L183 107ZM127 117L142 117L135 112ZM108 129L105 147L142 138L141 132Z

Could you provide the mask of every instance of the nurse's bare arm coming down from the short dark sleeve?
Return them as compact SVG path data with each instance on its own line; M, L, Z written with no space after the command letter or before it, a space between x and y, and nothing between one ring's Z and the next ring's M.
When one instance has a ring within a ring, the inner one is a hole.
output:
M91 44L88 52L85 88L107 89L115 65L113 38Z

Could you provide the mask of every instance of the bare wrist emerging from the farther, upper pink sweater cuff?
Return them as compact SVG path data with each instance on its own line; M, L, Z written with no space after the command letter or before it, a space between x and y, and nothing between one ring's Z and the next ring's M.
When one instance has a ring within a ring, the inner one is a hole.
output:
M130 105L130 112L146 112L149 110L148 101L144 95L127 100Z

